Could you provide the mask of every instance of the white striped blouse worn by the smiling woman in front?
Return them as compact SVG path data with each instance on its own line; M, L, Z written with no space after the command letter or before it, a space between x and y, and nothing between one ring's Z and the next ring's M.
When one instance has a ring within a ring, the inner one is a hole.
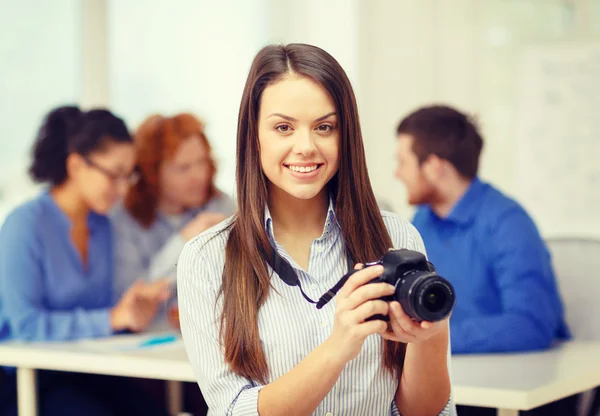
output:
M382 212L394 247L424 252L415 228L394 214ZM258 415L258 392L263 387L233 373L224 361L219 343L219 311L216 304L225 264L228 219L188 242L177 266L177 290L181 329L188 358L209 406L209 415ZM330 205L321 237L310 247L308 270L303 270L277 244L270 214L265 227L273 246L298 274L303 290L318 299L346 273L341 230ZM275 274L273 276L276 276ZM259 332L269 366L269 382L289 372L331 334L335 298L318 310L304 300L297 287L272 279L277 293L268 296L259 310ZM219 298L220 299L220 298ZM394 402L398 377L381 365L379 335L365 340L362 351L348 362L333 389L314 414L399 415ZM455 415L452 399L441 415Z

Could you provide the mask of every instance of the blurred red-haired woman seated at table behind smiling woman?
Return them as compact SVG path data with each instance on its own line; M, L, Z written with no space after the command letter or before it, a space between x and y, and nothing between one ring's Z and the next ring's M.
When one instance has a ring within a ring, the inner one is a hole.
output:
M185 243L233 213L215 186L204 123L191 114L153 115L135 133L139 180L115 207L115 293L133 282L174 281Z

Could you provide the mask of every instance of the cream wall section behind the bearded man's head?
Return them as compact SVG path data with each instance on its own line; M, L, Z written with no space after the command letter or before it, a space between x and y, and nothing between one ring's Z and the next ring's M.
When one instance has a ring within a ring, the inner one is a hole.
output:
M404 190L392 177L395 127L417 106L446 103L480 121L485 136L481 176L517 194L523 173L518 171L516 135L521 50L540 42L600 39L600 1L382 0L361 5L362 120L376 193L411 215ZM552 234L553 225L542 224L542 231Z

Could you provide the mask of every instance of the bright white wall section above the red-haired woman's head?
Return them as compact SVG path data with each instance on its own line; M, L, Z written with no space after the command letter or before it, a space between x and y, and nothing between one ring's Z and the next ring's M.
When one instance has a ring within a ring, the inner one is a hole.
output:
M153 113L206 122L217 185L234 191L235 137L252 58L267 42L265 1L109 1L110 105L135 129Z

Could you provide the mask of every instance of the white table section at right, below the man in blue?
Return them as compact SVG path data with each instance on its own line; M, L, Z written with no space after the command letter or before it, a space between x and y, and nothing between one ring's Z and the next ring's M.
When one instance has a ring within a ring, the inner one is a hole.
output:
M548 351L452 357L457 404L516 416L600 386L600 342L571 341Z

